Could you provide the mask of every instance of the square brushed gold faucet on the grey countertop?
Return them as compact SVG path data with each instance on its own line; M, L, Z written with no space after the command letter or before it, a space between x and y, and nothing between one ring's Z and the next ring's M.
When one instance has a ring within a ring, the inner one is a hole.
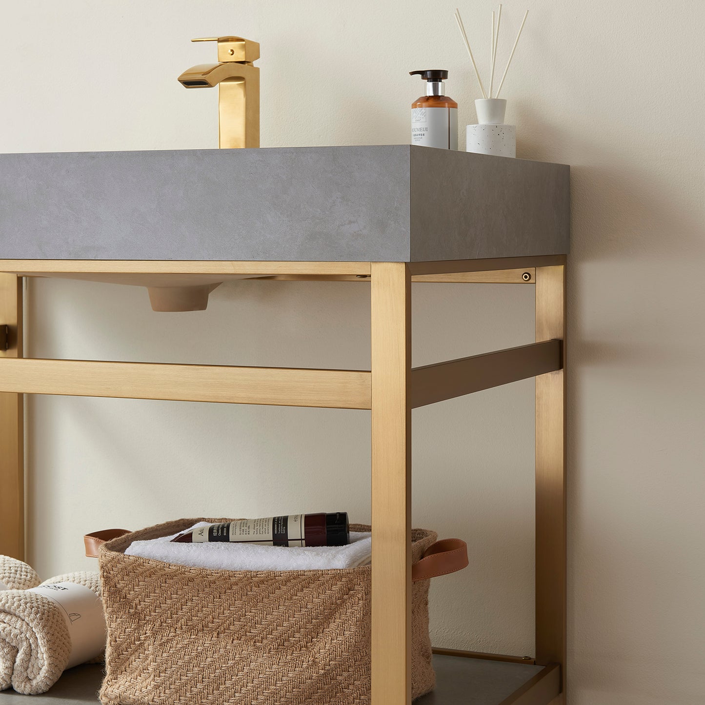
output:
M218 146L259 147L259 42L242 37L204 37L218 42L219 63L200 63L178 80L185 88L218 86Z

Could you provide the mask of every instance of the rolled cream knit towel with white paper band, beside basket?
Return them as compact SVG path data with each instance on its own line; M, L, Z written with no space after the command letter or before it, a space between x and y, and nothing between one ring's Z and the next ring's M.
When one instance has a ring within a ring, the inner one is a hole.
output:
M47 692L66 668L100 660L104 648L97 572L57 575L29 590L0 592L0 690Z

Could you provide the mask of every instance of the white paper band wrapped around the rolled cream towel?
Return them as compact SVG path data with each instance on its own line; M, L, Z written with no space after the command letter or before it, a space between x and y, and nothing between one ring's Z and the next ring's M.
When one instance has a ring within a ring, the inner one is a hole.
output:
M66 668L99 656L105 648L105 616L102 600L92 589L75 582L56 582L33 587L30 592L48 597L61 608L71 636L71 656Z

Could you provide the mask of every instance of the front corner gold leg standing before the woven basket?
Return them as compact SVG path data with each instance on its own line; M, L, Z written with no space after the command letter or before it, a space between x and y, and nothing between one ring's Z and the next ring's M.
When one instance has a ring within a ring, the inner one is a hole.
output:
M411 701L411 276L372 264L372 705Z

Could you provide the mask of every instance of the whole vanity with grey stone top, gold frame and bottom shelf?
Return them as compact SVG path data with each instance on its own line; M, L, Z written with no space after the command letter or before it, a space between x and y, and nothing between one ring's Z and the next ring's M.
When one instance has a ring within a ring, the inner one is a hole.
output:
M405 705L411 410L535 376L534 654L440 649L417 702L560 703L568 180L563 165L406 145L0 156L0 553L24 555L25 393L371 410L372 705ZM370 286L372 369L33 360L30 276L145 286L162 310L202 309L233 278ZM422 282L534 286L535 342L412 368ZM94 702L100 678L69 670L33 702Z

